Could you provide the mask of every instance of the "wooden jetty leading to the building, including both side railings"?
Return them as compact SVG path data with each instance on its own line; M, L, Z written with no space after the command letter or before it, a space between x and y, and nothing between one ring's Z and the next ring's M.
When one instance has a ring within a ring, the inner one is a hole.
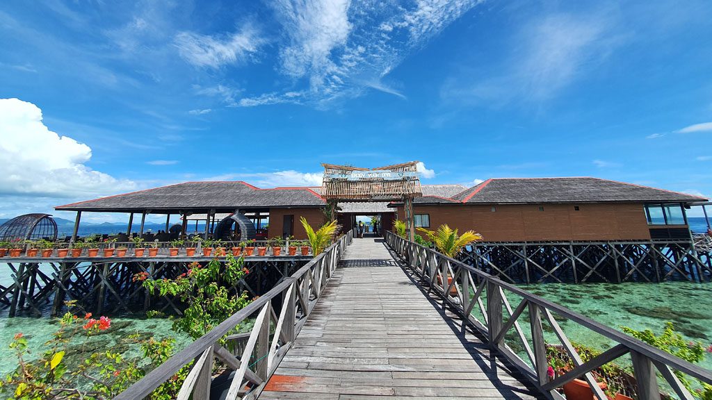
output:
M660 399L658 379L693 399L675 372L712 384L706 369L392 233L387 246L357 239L347 249L352 241L342 236L115 399L143 399L191 362L178 399L560 400L557 388L577 377L597 388L592 370L627 354L639 400ZM251 332L229 335L250 317ZM612 347L583 362L561 319ZM555 379L544 327L575 364ZM227 366L217 377L215 359Z

